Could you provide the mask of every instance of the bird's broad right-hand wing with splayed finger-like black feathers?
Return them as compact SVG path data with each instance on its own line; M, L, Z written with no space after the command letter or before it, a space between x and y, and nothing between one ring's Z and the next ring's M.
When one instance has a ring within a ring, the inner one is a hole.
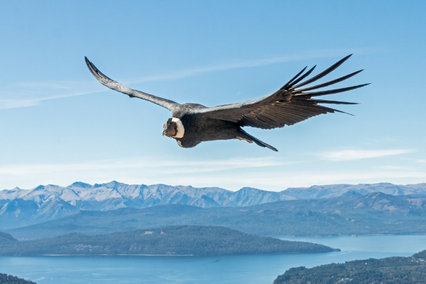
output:
M312 69L308 70L305 74L306 67L300 71L295 77L293 77L287 84L281 89L269 94L266 97L259 99L253 99L251 101L240 102L238 104L224 104L218 107L210 107L206 109L200 109L195 111L197 114L205 115L213 119L222 119L226 121L233 121L238 123L240 126L253 126L260 129L275 129L277 127L283 127L285 125L297 124L297 122L309 119L312 116L319 114L327 114L329 112L338 111L337 109L331 109L324 107L319 104L356 104L352 102L337 102L330 100L316 99L315 97L322 96L325 94L336 94L339 92L346 92L351 89L364 87L367 84L359 84L353 87L345 87L340 89L330 89L327 91L319 92L307 92L322 87L327 87L338 82L342 82L349 77L352 77L362 70L351 73L349 75L340 77L338 79L317 84L313 87L306 87L300 89L307 84L320 80L325 75L335 70L339 65L342 65L351 55L346 56L342 60L334 63L331 67L327 68L320 74L312 77L305 82L298 84L300 81L305 79ZM312 98L314 97L314 98ZM344 111L338 111L344 112Z

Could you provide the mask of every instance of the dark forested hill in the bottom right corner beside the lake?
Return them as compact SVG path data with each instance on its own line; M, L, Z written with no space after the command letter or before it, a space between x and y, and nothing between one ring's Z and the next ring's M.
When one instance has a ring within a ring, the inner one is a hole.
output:
M273 284L334 283L426 283L426 251L412 257L391 257L332 263L314 268L285 271Z

